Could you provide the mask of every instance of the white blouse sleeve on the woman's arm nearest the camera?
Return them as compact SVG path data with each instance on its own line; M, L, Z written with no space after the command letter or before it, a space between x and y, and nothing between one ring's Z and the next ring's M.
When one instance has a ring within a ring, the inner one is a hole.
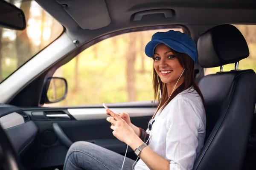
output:
M191 170L198 147L200 118L195 105L187 98L177 98L170 106L166 157L170 170Z

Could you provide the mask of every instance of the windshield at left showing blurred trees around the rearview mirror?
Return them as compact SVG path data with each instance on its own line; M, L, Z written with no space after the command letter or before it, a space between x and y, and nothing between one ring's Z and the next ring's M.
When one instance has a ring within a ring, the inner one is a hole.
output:
M63 26L35 1L16 0L14 5L23 10L26 29L0 28L0 83L63 32Z

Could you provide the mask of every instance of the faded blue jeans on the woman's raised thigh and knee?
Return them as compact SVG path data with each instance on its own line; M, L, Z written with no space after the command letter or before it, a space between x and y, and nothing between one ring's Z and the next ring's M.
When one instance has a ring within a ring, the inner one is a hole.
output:
M67 152L63 170L121 170L124 156L90 142L75 142ZM132 170L133 159L125 158L123 170Z

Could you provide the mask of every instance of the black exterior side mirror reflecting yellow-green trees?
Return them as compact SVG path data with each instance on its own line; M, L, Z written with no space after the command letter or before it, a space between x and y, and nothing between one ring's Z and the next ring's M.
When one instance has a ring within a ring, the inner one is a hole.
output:
M48 77L44 82L41 104L56 103L67 96L67 81L60 77Z

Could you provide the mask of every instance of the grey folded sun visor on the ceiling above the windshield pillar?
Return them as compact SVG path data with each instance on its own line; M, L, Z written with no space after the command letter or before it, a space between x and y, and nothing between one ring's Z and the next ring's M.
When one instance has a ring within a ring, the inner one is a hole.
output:
M56 0L82 29L108 26L111 19L105 0Z

